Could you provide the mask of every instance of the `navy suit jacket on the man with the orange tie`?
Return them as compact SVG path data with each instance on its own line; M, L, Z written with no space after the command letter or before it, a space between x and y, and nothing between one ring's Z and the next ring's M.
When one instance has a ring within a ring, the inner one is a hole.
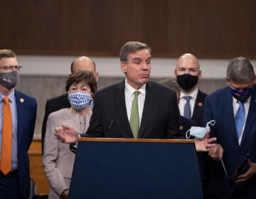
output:
M33 140L37 104L35 98L18 90L15 90L15 98L18 121L18 182L22 195L28 198L30 190L28 149Z

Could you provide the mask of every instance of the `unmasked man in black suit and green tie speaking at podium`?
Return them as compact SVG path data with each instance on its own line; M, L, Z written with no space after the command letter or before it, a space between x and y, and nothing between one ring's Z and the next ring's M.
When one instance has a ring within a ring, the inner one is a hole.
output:
M120 50L120 61L125 80L95 93L90 127L81 136L181 138L176 92L149 80L149 45L135 41L125 43ZM74 143L80 136L66 125L56 128L55 134L67 143Z

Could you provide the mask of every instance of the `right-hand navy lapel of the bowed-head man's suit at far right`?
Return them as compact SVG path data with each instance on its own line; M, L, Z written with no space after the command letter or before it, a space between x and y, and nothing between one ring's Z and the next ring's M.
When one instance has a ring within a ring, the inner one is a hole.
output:
M245 139L249 134L255 133L253 131L253 126L255 126L255 121L256 121L256 86L253 86L253 92L252 92L252 97L250 99L250 107L249 111L247 114L247 119L245 122L245 129L242 134L242 141L240 146L242 146L245 143Z

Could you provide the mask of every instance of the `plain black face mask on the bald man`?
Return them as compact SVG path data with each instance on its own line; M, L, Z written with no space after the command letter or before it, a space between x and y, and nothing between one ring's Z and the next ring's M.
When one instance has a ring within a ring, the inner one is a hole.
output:
M198 82L198 76L193 75L177 75L178 85L186 91L191 90Z

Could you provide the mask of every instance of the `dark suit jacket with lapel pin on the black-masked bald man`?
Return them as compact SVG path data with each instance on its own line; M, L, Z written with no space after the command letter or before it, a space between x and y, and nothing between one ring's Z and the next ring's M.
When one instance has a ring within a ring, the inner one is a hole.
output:
M196 96L196 103L193 109L193 115L191 119L198 124L199 127L203 127L203 108L205 105L206 93L198 90L198 95Z

